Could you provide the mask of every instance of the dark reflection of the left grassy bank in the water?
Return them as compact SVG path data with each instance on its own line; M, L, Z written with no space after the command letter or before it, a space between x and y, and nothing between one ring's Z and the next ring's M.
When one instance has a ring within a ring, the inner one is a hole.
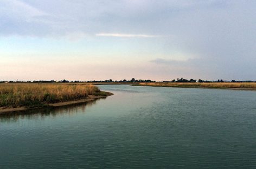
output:
M78 112L85 112L87 107L95 105L98 100L106 99L99 98L96 100L77 103L73 105L61 106L61 107L50 107L43 109L31 109L26 111L7 112L0 114L0 122L16 122L21 119L43 119L46 116L61 116L61 115L75 115Z

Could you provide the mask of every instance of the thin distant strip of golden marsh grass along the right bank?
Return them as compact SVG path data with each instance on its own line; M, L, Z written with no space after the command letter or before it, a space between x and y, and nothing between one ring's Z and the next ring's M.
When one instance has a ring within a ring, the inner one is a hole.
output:
M256 83L139 83L135 86L256 89Z

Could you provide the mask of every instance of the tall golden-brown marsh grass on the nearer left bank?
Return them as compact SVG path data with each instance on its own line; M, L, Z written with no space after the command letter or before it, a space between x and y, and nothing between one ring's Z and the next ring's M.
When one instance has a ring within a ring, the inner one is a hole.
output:
M8 83L0 85L0 107L44 107L48 103L85 99L88 95L107 93L85 83Z

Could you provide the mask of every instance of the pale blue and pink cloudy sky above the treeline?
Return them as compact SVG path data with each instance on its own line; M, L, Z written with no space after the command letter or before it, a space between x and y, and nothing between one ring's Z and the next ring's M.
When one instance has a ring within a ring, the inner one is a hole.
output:
M256 1L0 0L0 81L256 80Z

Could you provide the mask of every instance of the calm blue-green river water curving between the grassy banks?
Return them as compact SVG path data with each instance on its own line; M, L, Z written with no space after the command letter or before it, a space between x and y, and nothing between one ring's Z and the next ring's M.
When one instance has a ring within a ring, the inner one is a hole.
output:
M0 168L256 168L256 92L103 85L82 105L0 115Z

